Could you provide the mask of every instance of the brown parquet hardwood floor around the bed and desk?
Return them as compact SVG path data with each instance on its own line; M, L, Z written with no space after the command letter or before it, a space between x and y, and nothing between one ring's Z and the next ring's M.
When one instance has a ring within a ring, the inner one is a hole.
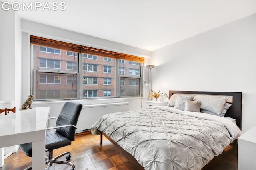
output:
M99 138L99 135L92 135L90 132L78 133L71 145L54 150L54 156L67 151L71 152L70 162L75 164L76 170L136 169L136 166L106 137L103 137L103 144L99 145ZM61 160L65 158L66 156ZM17 153L6 158L0 170L23 170L28 166L31 166L31 158L19 149ZM50 167L50 170L70 169L71 166L60 164L53 164ZM231 143L222 154L214 157L202 170L237 170L237 146Z

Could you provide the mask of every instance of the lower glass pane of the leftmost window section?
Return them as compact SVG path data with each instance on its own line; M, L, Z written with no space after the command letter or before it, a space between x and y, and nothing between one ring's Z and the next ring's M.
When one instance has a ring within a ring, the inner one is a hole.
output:
M71 83L71 77L73 76L76 82L77 74L36 72L35 99L49 100L77 98L77 85Z

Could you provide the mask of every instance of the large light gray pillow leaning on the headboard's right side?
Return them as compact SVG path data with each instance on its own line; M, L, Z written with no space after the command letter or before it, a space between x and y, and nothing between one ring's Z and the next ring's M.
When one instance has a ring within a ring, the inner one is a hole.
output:
M222 112L227 100L228 98L225 96L196 95L194 97L194 101L201 101L201 109L211 111L218 115Z

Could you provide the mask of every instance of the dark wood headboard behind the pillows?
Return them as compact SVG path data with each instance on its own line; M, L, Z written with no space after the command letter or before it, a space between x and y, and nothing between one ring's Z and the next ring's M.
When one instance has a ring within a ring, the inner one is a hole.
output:
M226 117L232 117L236 119L236 125L241 129L242 127L242 92L197 92L197 91L169 91L169 98L173 94L208 94L208 95L220 95L220 96L233 96L233 102L231 107L225 114Z

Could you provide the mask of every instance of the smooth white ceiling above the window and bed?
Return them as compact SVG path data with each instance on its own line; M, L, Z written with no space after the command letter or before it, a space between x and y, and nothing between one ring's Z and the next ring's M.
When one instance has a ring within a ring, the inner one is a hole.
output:
M18 10L19 15L150 51L256 13L256 0L55 1L66 2L66 10L34 10L34 1L23 0L33 2L33 10ZM40 2L53 8L50 0Z

